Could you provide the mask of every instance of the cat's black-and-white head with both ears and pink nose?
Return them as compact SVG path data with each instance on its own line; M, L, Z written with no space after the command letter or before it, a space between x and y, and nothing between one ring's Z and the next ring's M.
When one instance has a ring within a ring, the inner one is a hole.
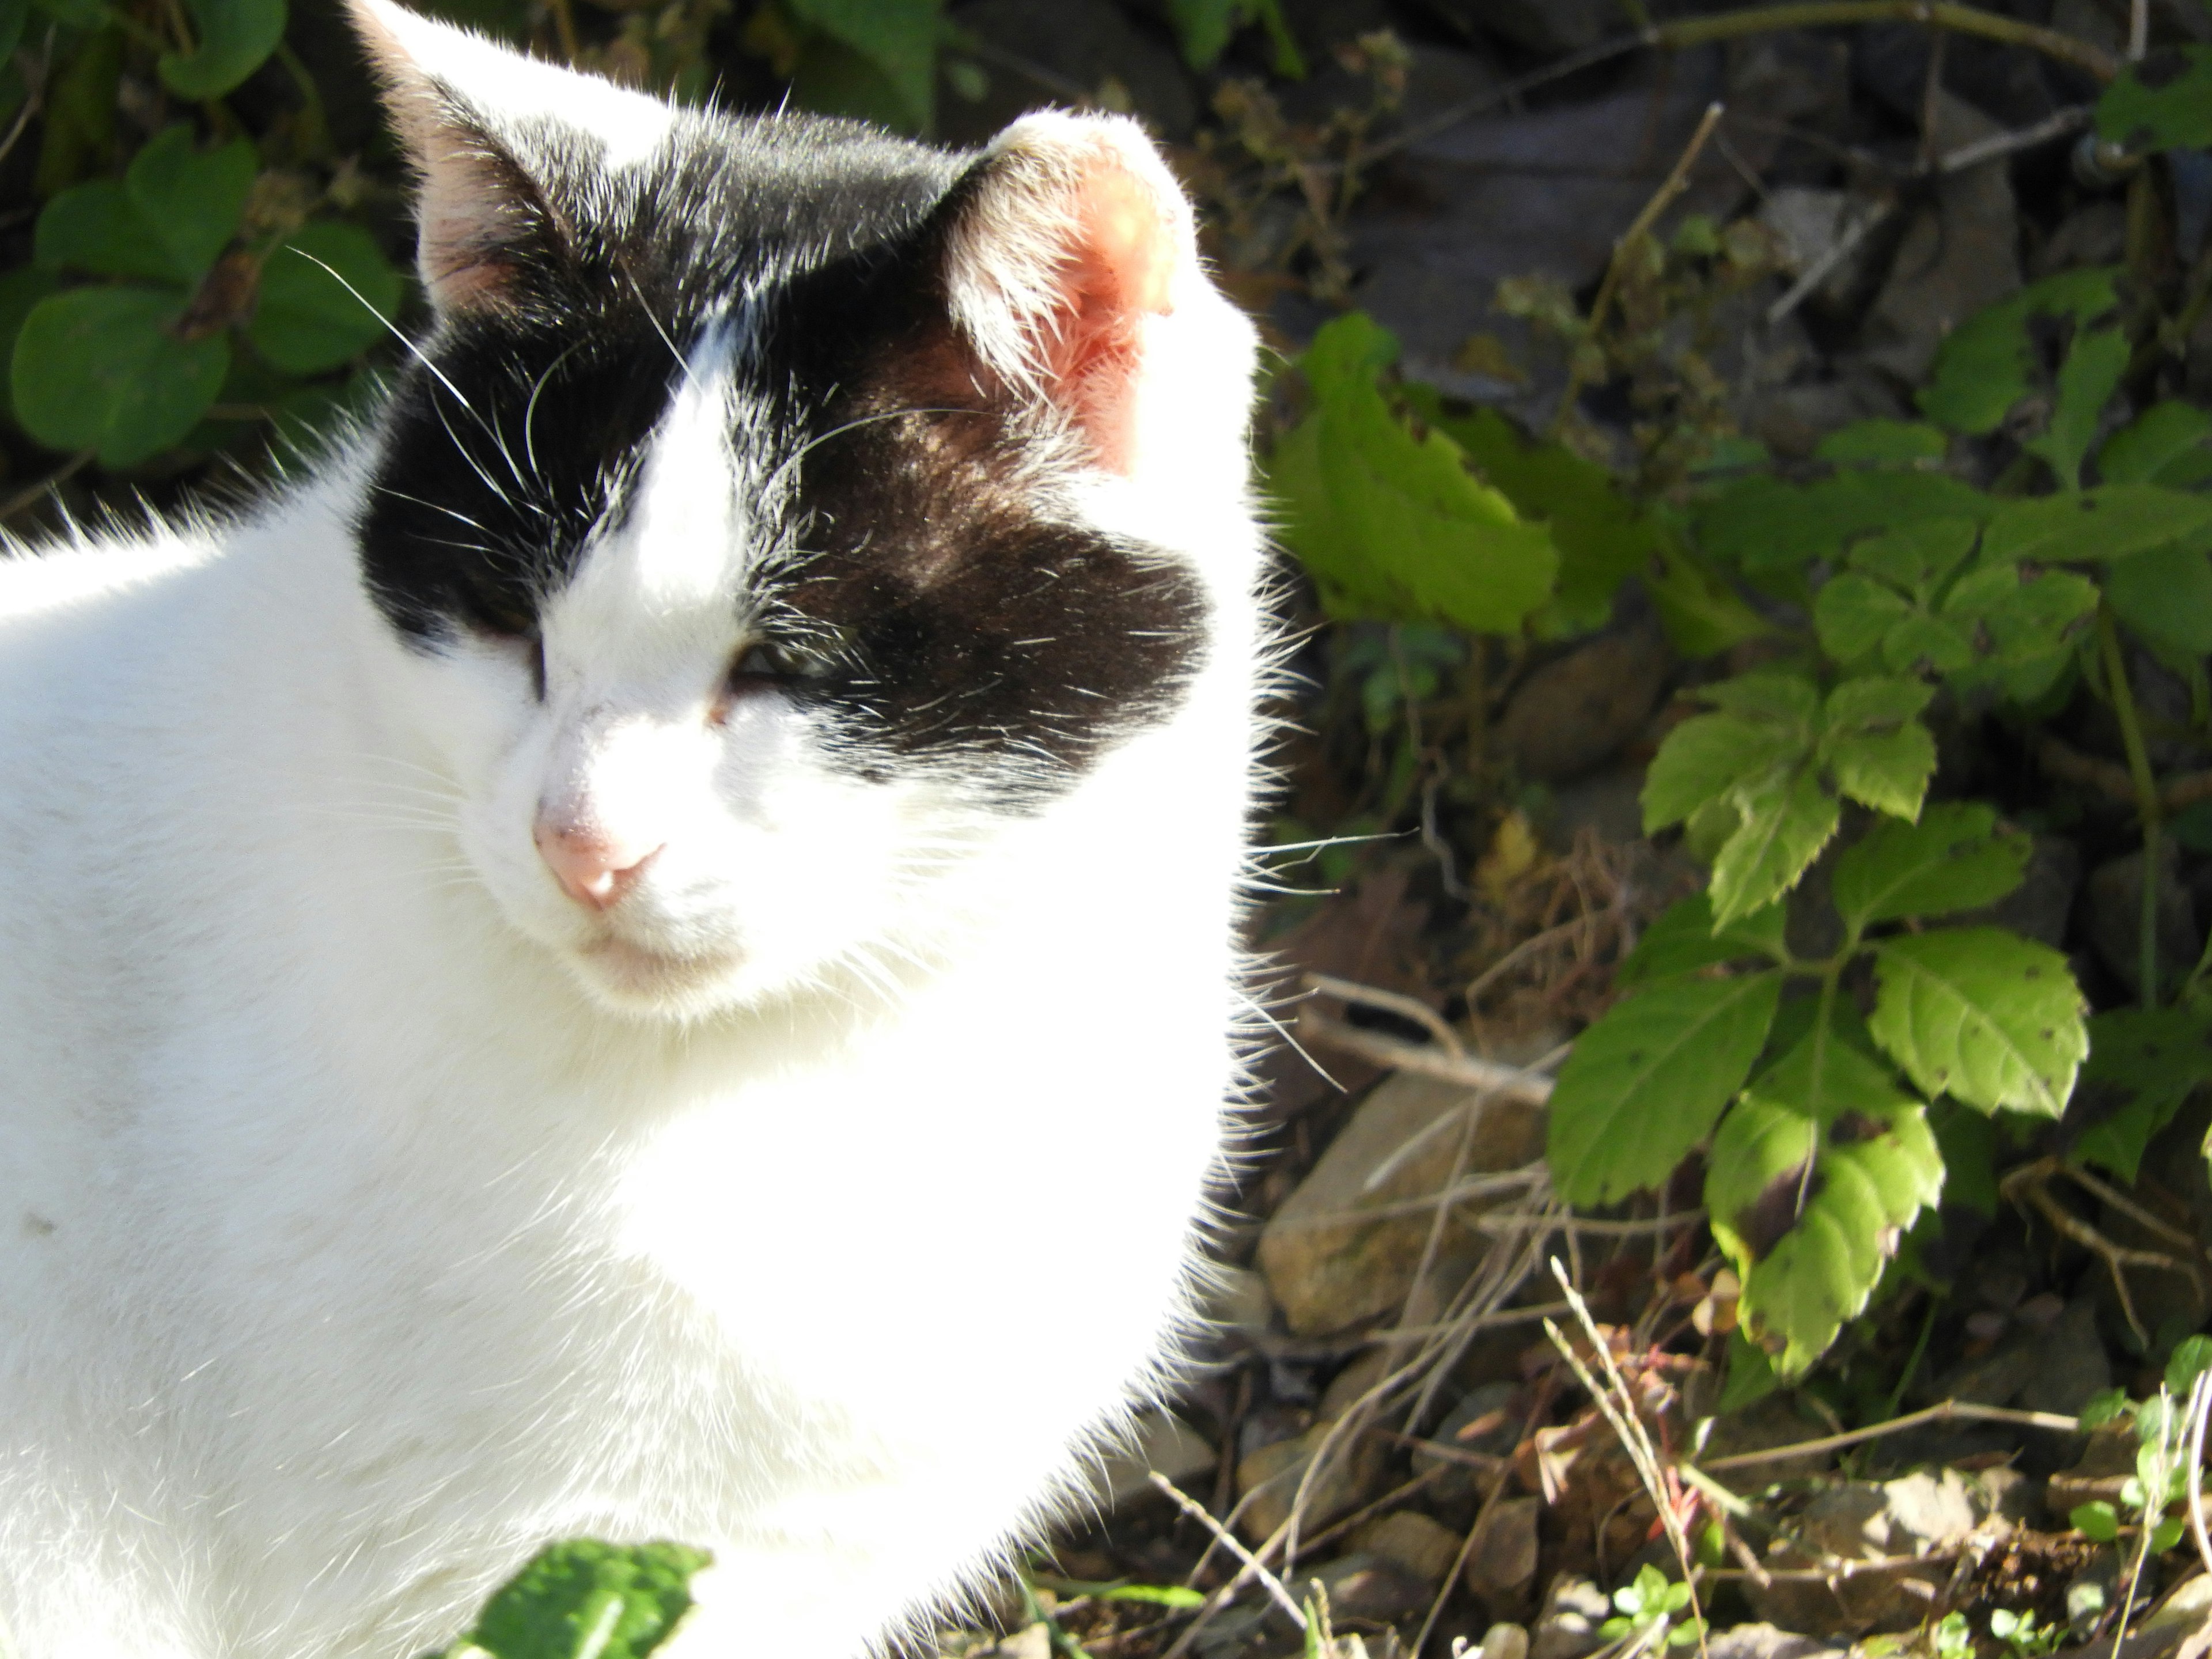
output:
M1252 332L1159 155L679 111L354 15L436 314L361 564L473 874L630 1013L927 953L1250 582Z

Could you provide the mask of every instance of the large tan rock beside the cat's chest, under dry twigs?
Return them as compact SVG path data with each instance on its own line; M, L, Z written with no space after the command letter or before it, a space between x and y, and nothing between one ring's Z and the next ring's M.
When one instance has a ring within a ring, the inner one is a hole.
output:
M1387 1077L1276 1208L1261 1232L1259 1267L1294 1334L1340 1332L1405 1303L1429 1243L1431 1217L1416 1212L1363 1219L1363 1210L1442 1190L1460 1133L1440 1119L1455 1117L1475 1099L1471 1091L1433 1077ZM1433 1133L1400 1157L1431 1126ZM1544 1115L1533 1106L1491 1097L1480 1108L1467 1172L1520 1168L1542 1152ZM1369 1188L1369 1177L1385 1166L1385 1179ZM1475 1206L1460 1206L1458 1214L1471 1210ZM1453 1267L1464 1272L1482 1250L1484 1239L1471 1228L1447 1228L1440 1274Z

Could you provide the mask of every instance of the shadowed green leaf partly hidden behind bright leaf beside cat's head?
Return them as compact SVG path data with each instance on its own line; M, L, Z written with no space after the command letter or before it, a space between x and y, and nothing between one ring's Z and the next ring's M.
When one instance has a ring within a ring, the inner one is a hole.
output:
M1608 469L1566 445L1531 442L1495 409L1451 414L1433 387L1409 385L1405 400L1467 451L1515 513L1551 529L1559 551L1553 630L1604 626L1621 582L1661 555L1666 531L1619 493Z

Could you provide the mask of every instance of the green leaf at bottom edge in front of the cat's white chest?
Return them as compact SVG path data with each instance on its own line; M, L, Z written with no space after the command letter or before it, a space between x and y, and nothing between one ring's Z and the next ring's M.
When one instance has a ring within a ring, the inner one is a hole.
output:
M706 1551L553 1544L491 1597L467 1641L493 1659L644 1659L690 1608Z

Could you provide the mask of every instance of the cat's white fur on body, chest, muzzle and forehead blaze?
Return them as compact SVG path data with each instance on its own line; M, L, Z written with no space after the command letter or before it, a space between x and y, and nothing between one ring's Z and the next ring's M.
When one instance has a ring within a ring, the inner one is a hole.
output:
M1077 504L1192 562L1208 659L1033 818L712 723L712 354L544 703L376 615L358 449L0 568L18 1659L407 1659L571 1535L717 1553L686 1652L852 1659L1079 1484L1234 1093L1252 336L1203 281L1148 327ZM542 801L664 843L635 902L562 898Z

